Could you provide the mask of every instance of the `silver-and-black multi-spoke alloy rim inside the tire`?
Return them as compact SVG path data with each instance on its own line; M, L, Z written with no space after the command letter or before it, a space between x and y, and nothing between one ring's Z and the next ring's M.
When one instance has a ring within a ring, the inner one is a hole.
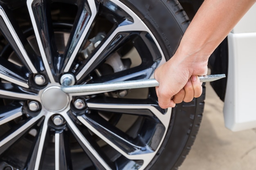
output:
M7 42L0 60L0 166L146 168L171 119L171 109L157 105L154 88L139 90L143 95L136 89L65 94L60 79L70 74L75 84L89 84L150 78L166 62L157 40L118 0L67 0L77 11L73 24L49 20L54 7L62 4L53 2L27 0L23 4L31 20L27 31L15 24L15 9L0 4L0 31ZM95 33L102 20L106 31ZM6 50L10 48L12 52ZM126 49L135 51L135 57L129 57ZM139 58L139 64L134 58ZM20 149L16 154L20 162L15 163L11 154L22 146L27 152ZM78 156L83 165L77 163Z

